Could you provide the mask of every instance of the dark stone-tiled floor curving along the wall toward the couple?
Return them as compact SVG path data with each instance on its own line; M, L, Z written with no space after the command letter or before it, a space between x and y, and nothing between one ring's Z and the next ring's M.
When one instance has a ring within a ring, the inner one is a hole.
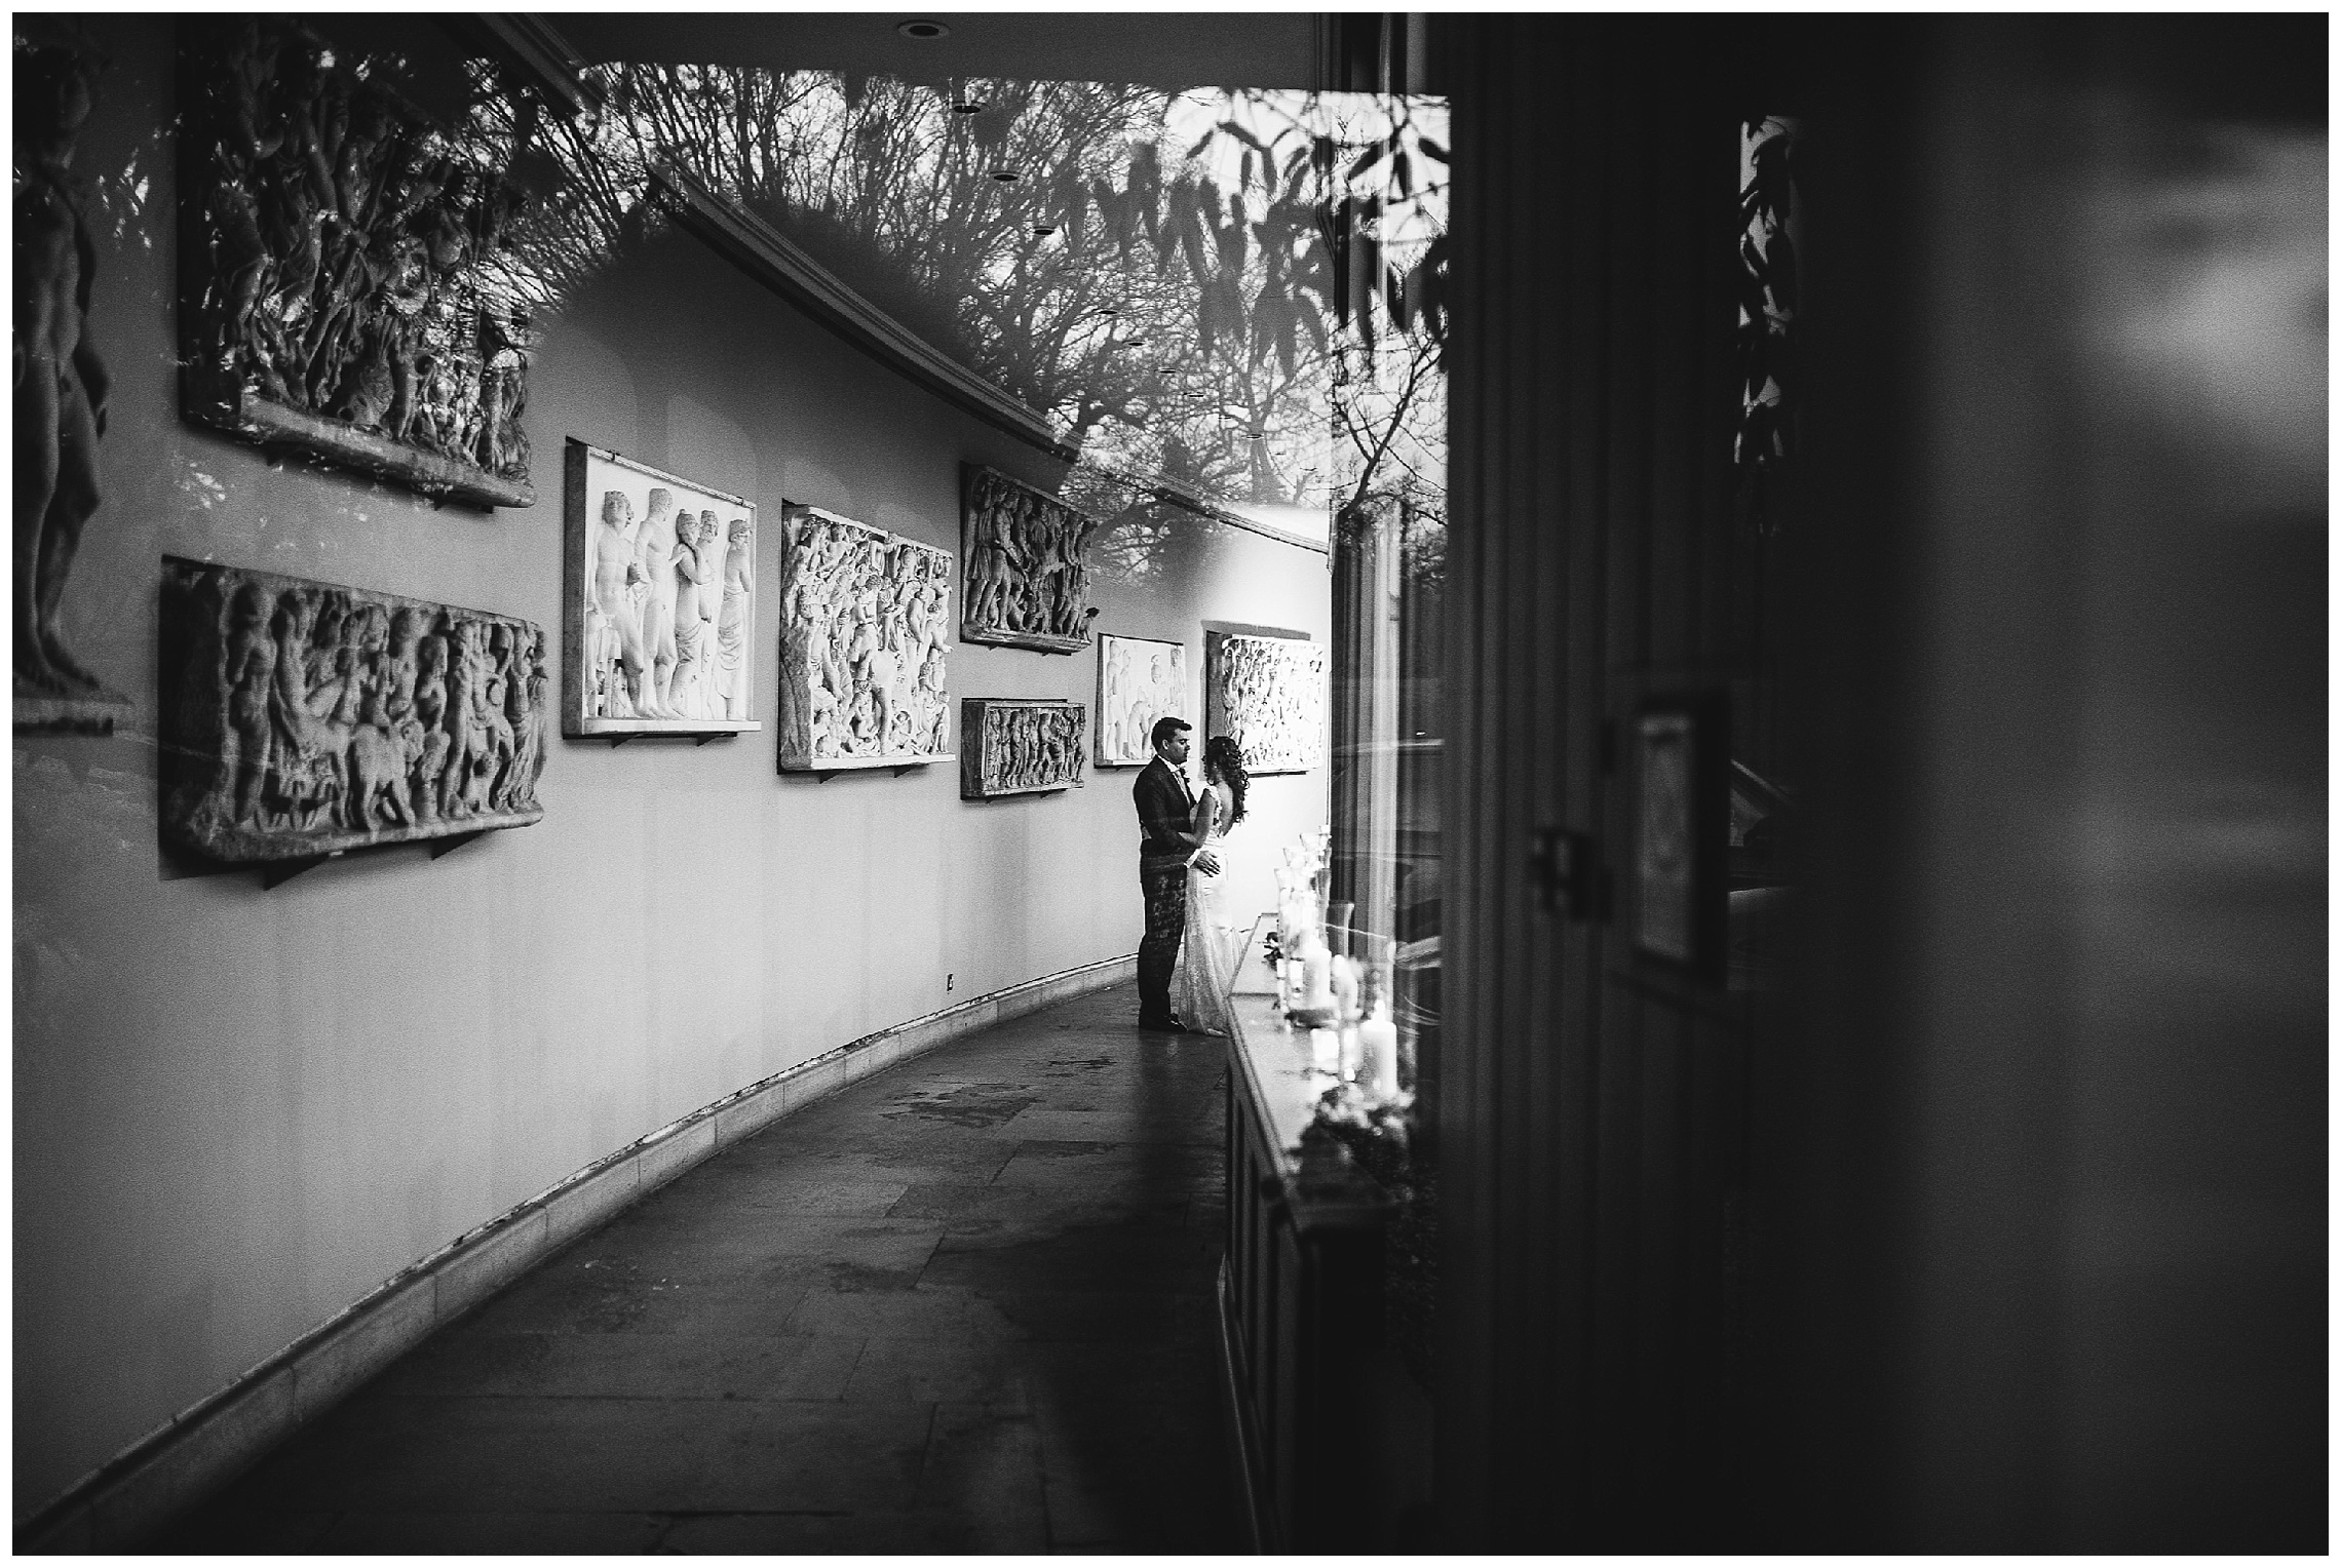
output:
M1229 1552L1224 1046L1133 988L648 1196L162 1552Z

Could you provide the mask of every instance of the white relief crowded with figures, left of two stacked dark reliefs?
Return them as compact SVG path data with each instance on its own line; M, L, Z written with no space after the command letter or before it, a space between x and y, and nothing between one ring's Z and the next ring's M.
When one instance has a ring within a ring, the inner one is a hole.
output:
M948 763L950 550L789 506L780 768Z

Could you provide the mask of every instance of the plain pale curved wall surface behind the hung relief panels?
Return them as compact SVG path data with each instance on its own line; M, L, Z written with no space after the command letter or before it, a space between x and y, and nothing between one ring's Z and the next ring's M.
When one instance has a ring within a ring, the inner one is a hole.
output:
M1131 772L1000 803L962 803L948 765L775 775L782 498L957 550L962 459L1037 484L1060 463L670 234L538 323L538 506L274 470L176 412L171 28L94 26L115 63L80 169L110 199L91 330L115 398L68 637L138 707L110 740L16 737L19 1519L592 1158L871 1030L1131 953L1142 927ZM438 861L353 857L269 892L173 875L157 557L506 611L557 641L569 435L763 508L766 730L557 740L543 824ZM1208 524L1096 601L1100 630L1187 641L1196 718L1206 618L1330 634L1325 557ZM1093 702L1096 655L962 644L950 690ZM1274 847L1323 817L1323 772L1259 779L1234 903L1264 906Z

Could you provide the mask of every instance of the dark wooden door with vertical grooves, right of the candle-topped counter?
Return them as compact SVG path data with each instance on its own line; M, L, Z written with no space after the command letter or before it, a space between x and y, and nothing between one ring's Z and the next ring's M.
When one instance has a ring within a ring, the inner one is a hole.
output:
M1636 941L1632 737L1732 646L1737 110L1714 28L1456 30L1442 1517L1735 1521L1749 1016ZM1709 747L1728 747L1723 733Z

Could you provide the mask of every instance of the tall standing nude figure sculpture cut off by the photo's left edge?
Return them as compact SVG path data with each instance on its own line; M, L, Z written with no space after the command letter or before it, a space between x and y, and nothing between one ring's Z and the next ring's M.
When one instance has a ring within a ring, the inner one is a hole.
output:
M63 599L103 498L105 363L89 339L96 248L73 147L98 56L70 23L16 35L16 728L110 733L129 704L66 646Z

